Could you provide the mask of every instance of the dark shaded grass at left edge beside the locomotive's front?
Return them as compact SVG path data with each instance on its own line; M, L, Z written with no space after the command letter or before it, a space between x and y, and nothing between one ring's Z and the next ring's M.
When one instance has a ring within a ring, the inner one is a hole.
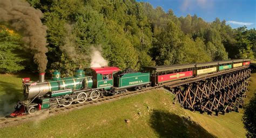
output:
M14 112L14 106L18 100L23 98L21 89L17 89L15 84L0 81L0 86L4 94L0 95L0 116L9 115Z

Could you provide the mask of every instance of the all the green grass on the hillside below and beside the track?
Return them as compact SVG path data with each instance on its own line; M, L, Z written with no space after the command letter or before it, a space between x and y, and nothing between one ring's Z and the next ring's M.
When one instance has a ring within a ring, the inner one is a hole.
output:
M252 74L249 95L256 89L255 78L256 73ZM18 75L1 74L0 80L1 97L5 90L18 95L15 98L22 95ZM42 115L37 121L1 128L0 137L245 137L242 110L211 116L193 113L172 101L173 94L165 89L152 90L46 119Z

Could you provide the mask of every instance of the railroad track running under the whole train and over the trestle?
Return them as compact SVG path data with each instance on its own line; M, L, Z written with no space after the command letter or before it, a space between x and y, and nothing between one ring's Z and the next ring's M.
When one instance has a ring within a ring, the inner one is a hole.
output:
M35 120L38 116L41 116L41 114L44 114L46 112L49 112L49 115L47 115L45 118L47 118L48 116L51 116L51 115L55 115L56 113L72 111L74 109L84 108L84 107L88 107L88 106L100 105L102 103L110 102L110 101L117 100L117 99L126 98L128 96L149 92L149 90L151 90L151 89L157 89L157 88L164 87L164 86L167 87L167 88L177 87L177 86L189 84L191 82L196 82L196 81L199 81L199 80L203 80L203 79L206 79L206 78L212 78L212 77L216 77L218 75L222 75L222 74L226 74L226 73L230 73L230 72L234 72L234 71L238 71L238 70L243 70L245 68L248 68L248 67L244 66L244 67L239 67L239 68L233 68L232 70L227 70L227 71L223 71L223 72L201 75L200 77L196 77L196 78L171 81L171 82L167 82L165 84L159 85L159 86L147 87L147 88L144 88L144 89L140 89L138 91L128 91L128 92L122 93L122 94L117 94L117 95L112 95L112 96L104 96L103 98L99 98L97 100L85 101L83 103L75 103L75 104L72 104L68 107L59 107L59 108L55 108L55 109L44 109L44 110L39 111L39 112L37 112L35 114L32 114L32 115L18 116L16 118L11 118L11 117L8 117L8 116L6 117L5 116L5 117L0 118L0 128L6 127L6 126L11 126L11 125L16 125L16 124L19 124L19 123L22 123L22 122L25 122L25 121Z

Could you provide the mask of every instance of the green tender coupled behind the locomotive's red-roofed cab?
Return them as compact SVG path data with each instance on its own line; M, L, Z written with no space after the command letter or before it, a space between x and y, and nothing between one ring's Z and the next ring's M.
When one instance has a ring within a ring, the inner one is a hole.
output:
M114 77L116 87L133 87L150 83L150 73L136 72L119 74Z

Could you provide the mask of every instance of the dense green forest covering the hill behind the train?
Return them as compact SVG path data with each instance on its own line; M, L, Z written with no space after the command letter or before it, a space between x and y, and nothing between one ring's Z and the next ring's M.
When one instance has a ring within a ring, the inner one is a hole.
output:
M59 70L65 76L79 66L90 67L92 49L122 70L256 57L255 29L232 29L219 18L209 23L197 15L177 17L171 9L135 0L27 2L42 11L47 26L46 72ZM21 31L0 22L2 73L38 71Z

